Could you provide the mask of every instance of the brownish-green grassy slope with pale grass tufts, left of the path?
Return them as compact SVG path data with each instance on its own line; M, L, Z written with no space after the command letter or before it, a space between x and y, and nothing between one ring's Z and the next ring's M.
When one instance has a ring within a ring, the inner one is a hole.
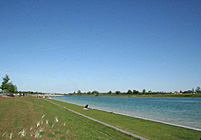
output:
M0 98L0 118L0 139L135 139L34 97Z

